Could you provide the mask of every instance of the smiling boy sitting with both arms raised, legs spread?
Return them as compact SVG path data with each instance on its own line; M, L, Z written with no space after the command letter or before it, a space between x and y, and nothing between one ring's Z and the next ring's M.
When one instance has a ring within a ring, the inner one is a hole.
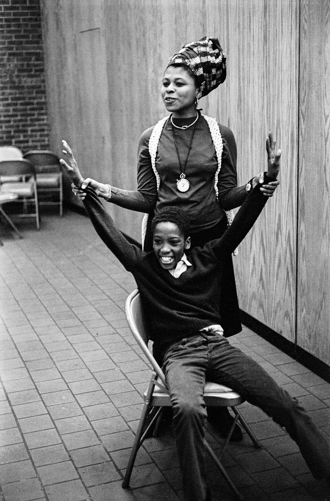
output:
M62 166L77 185L83 177L63 141ZM280 150L267 138L264 183L277 177ZM188 501L209 500L204 462L205 380L224 384L285 427L315 478L330 475L330 447L299 402L281 389L258 363L222 337L218 291L225 288L222 262L244 238L267 197L256 186L221 238L189 250L188 221L177 209L153 219L153 252L129 243L115 227L91 187L85 208L99 236L136 280L147 312L148 333L163 354L163 370L173 407L173 427Z

